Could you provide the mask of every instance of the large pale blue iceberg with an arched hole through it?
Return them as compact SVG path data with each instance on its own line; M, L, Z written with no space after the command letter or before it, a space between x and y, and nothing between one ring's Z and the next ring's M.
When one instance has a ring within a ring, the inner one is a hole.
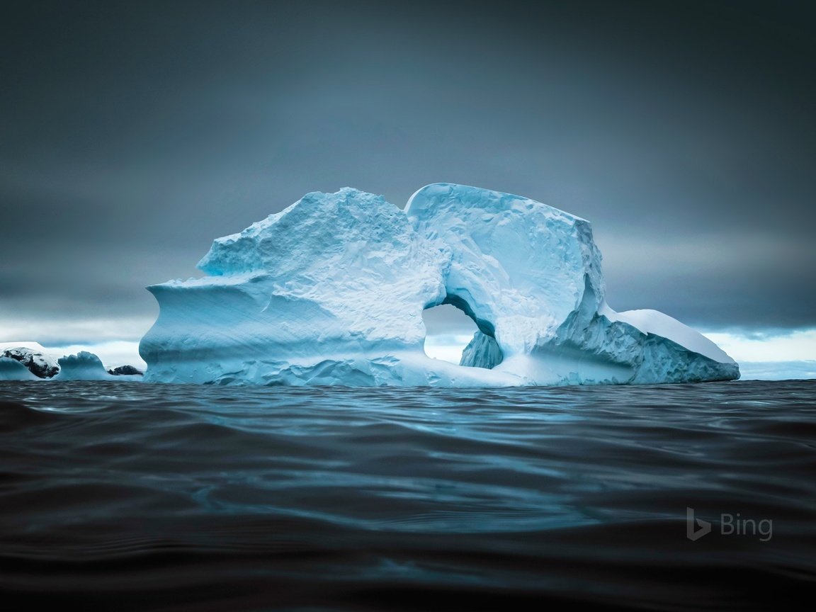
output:
M146 381L506 386L736 379L737 364L655 311L605 303L588 221L457 184L405 211L344 188L308 193L218 238L205 277L148 289ZM424 353L422 313L478 326L461 365Z

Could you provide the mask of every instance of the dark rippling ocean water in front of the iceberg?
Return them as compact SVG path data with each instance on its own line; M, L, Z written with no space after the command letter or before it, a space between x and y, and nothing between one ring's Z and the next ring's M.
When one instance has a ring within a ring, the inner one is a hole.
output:
M0 383L0 401L4 610L744 610L816 594L816 381L38 382ZM711 533L686 537L687 508Z

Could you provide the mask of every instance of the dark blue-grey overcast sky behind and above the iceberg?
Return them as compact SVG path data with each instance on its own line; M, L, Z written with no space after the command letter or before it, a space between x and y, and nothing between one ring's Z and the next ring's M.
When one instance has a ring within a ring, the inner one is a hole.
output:
M437 181L591 220L618 310L814 327L814 6L7 4L0 341L138 339L213 238Z

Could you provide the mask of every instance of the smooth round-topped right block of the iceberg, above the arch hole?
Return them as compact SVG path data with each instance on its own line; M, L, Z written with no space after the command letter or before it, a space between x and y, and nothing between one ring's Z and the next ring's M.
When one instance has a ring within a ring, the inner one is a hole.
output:
M450 248L446 300L493 336L505 357L530 352L593 290L603 299L600 253L587 221L508 193L433 184L406 207L420 234Z

